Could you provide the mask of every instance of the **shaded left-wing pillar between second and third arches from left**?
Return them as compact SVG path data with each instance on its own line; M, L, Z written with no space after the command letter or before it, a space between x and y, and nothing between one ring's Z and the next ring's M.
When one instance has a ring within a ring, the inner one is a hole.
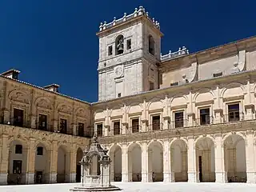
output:
M58 164L58 142L53 141L52 150L50 150L50 173L49 183L57 182L57 164Z

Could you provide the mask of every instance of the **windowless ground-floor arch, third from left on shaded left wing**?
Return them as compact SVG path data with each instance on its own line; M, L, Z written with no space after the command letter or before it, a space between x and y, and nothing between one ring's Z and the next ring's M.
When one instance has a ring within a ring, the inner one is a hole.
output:
M57 182L69 182L70 157L63 146L58 147Z

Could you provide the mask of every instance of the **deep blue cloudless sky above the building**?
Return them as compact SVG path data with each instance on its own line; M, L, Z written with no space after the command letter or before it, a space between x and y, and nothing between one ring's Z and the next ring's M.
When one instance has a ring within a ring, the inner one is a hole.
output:
M253 0L1 0L0 71L15 68L25 82L58 83L62 94L95 102L99 23L141 5L160 22L162 54L256 34Z

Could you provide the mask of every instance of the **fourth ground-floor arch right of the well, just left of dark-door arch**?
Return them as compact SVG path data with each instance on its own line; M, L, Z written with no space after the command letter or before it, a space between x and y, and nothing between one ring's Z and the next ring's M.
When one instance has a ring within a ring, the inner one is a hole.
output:
M187 181L187 146L182 139L177 139L170 146L170 169L175 182Z

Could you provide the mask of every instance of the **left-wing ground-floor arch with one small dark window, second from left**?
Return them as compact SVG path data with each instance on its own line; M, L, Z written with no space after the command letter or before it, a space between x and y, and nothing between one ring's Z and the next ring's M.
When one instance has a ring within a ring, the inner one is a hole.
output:
M50 162L46 147L39 143L35 148L34 156L34 183L46 183L49 181Z

